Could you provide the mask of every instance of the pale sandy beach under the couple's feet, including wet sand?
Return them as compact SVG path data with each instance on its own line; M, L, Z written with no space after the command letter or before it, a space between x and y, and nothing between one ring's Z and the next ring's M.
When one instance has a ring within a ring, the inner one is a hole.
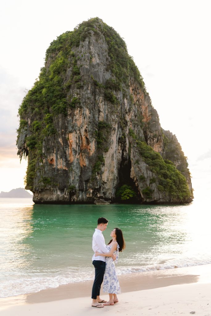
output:
M211 315L211 264L119 276L119 303L91 307L92 282L0 299L0 315ZM102 298L108 295L102 293Z

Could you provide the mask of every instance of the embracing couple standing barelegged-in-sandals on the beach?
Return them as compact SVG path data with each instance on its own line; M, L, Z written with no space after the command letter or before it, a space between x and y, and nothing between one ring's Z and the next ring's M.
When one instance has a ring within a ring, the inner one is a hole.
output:
M107 228L107 225L108 220L105 217L100 217L92 240L92 249L94 251L92 264L95 269L92 287L92 307L97 308L118 303L117 294L121 293L114 262L118 262L118 253L125 248L124 238L121 229L114 228L110 235L112 239L106 246L102 232ZM103 278L103 292L109 293L109 301L104 301L100 298L100 287Z

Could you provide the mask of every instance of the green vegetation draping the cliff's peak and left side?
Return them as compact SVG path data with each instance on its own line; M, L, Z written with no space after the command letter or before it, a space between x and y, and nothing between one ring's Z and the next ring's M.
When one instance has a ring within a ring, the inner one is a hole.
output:
M129 87L130 76L137 84L144 88L143 78L133 59L128 55L124 40L110 26L101 19L93 18L79 24L74 31L68 31L53 40L46 51L45 67L41 68L39 79L24 97L19 108L20 125L18 138L21 131L27 128L27 117L30 115L30 125L27 131L26 147L24 155L28 155L28 168L26 175L27 189L33 189L33 179L36 174L36 166L42 166L42 144L46 137L57 135L55 120L58 115L66 116L68 109L80 106L77 91L83 88L83 78L80 73L80 58L76 58L73 50L87 37L105 37L108 46L109 62L107 70L110 70L115 80L109 79L105 85L99 85L104 90L105 100L112 104L118 104L114 91ZM90 56L90 62L92 62ZM67 71L71 70L68 81L65 81ZM75 88L76 94L72 95L70 88ZM145 89L145 88L144 88ZM99 136L98 144L99 142ZM99 145L100 146L100 145ZM99 155L101 156L101 155ZM94 170L99 170L102 159L96 161Z

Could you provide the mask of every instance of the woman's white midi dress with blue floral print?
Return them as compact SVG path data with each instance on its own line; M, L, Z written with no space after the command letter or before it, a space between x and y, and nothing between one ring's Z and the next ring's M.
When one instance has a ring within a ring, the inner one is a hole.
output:
M111 250L112 245L106 246L108 250ZM116 255L116 260L113 261L112 257L105 257L105 273L104 273L104 283L103 292L120 294L119 280L117 278L115 264L118 262L119 255L119 245L117 244L117 250L114 251Z

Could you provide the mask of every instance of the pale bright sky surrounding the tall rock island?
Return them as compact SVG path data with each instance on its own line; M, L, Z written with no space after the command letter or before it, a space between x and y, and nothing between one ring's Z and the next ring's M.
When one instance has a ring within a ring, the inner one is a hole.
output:
M211 188L210 1L54 1L1 3L0 191L24 187L16 155L18 107L39 76L52 40L98 16L124 38L160 124L188 157L195 197Z

